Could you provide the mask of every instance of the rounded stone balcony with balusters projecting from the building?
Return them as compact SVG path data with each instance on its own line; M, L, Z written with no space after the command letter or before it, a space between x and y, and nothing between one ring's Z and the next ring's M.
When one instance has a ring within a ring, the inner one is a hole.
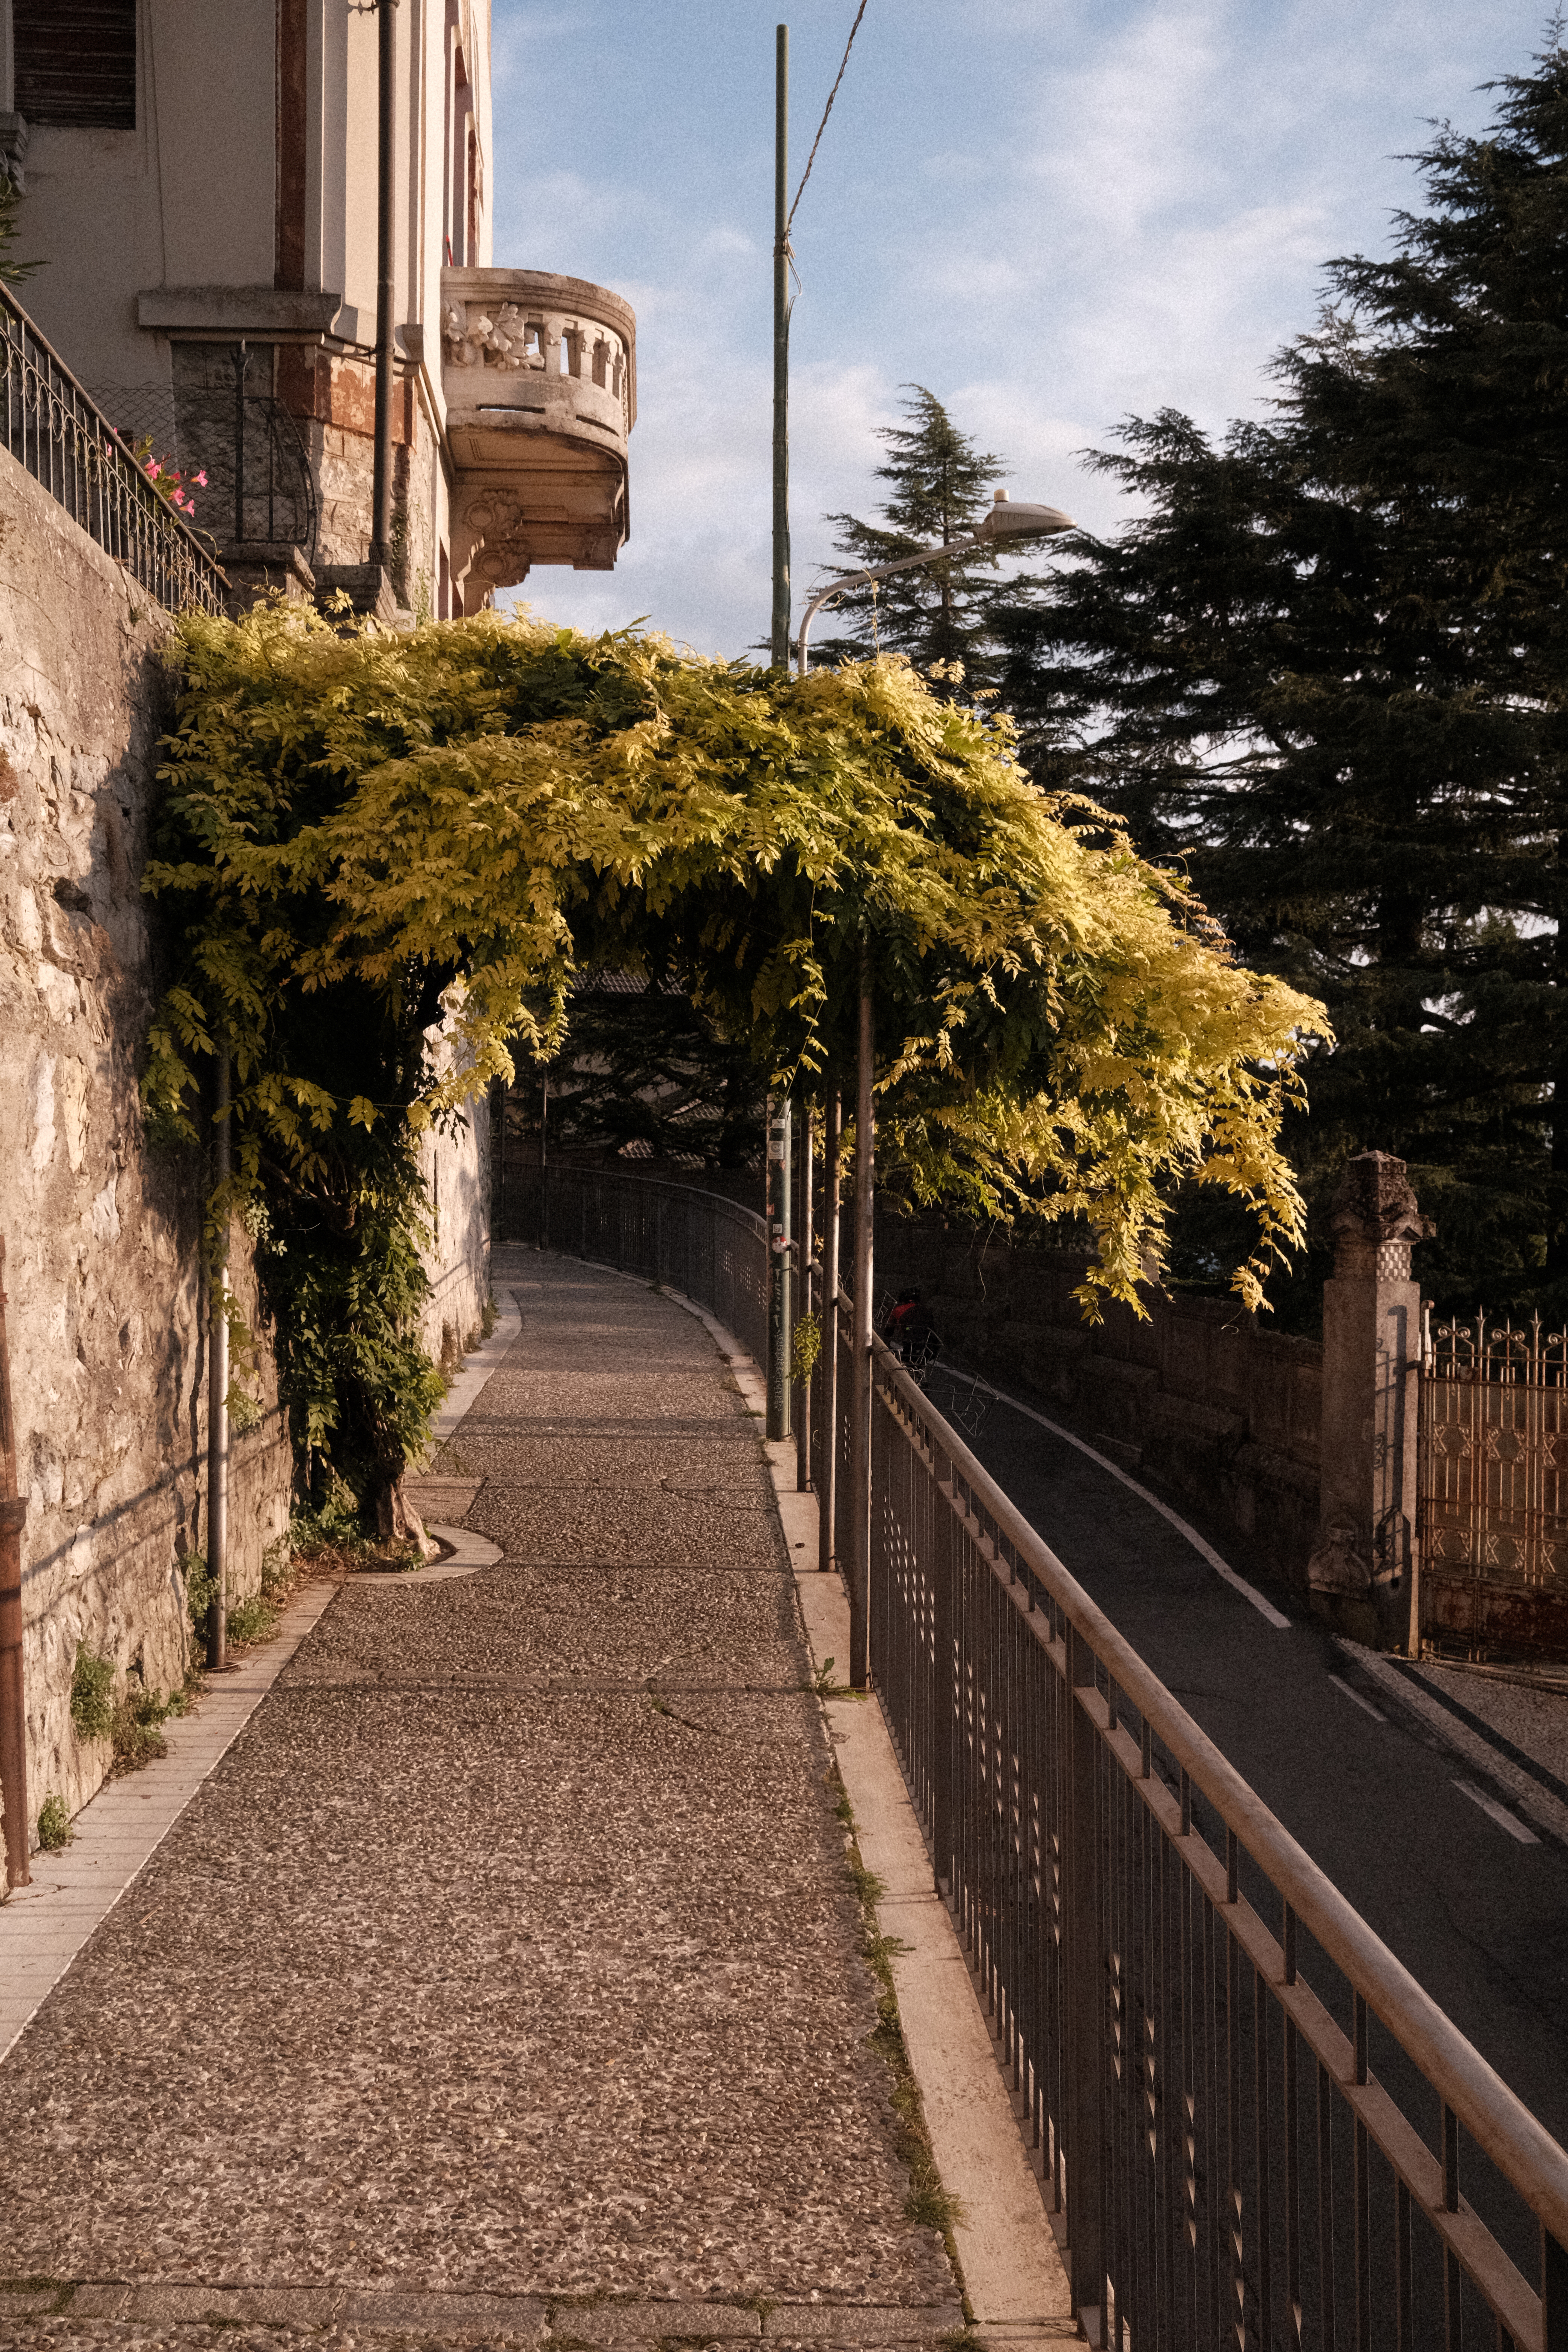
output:
M630 306L583 278L442 270L442 388L454 579L494 590L531 564L611 572L630 529Z

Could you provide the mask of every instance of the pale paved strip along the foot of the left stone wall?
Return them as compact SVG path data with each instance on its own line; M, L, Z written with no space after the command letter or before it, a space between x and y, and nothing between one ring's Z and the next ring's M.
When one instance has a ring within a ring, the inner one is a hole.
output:
M233 1672L214 1675L195 1715L167 1724L167 1757L108 1780L75 1816L71 1844L33 1856L33 1884L16 1886L0 1905L0 2060L146 1870L336 1595L336 1576L306 1585L282 1611L275 1639Z

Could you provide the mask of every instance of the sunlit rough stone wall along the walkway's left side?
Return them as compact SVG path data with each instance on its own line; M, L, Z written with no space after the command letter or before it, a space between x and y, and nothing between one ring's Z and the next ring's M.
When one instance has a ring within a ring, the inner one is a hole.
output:
M108 1743L71 1726L78 1642L172 1689L179 1559L202 1550L200 1162L148 1148L158 976L139 875L167 717L167 616L0 454L0 1216L24 1531L28 1811L75 1811ZM244 1235L233 1279L254 1308ZM266 1336L233 1442L230 1595L284 1529Z

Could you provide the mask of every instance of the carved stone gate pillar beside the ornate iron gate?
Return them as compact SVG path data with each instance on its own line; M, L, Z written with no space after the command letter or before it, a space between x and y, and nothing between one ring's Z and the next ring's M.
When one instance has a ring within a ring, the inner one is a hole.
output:
M1333 1200L1324 1284L1319 1531L1312 1606L1375 1649L1408 1649L1415 1550L1420 1284L1410 1247L1432 1235L1403 1160L1359 1152Z

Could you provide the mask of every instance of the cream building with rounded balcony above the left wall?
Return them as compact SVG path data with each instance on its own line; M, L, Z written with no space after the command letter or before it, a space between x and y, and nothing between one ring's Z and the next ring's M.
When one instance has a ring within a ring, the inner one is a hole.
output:
M447 616L531 564L616 562L635 318L491 266L489 0L395 0L395 59L386 576L376 9L0 0L0 160L47 259L28 313L110 423L207 473L230 579Z

